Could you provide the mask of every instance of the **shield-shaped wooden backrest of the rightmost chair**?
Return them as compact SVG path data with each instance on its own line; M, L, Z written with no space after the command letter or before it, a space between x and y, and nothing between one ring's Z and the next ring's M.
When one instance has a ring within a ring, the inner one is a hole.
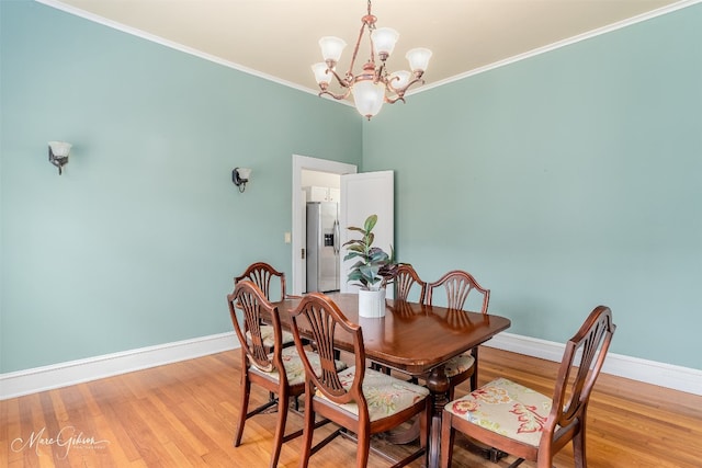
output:
M567 431L571 423L585 416L590 392L602 369L615 329L609 307L598 306L566 343L547 420L548 426L544 427L544 436L547 438L553 436L548 434L553 434L556 427ZM542 436L542 443L546 441Z

